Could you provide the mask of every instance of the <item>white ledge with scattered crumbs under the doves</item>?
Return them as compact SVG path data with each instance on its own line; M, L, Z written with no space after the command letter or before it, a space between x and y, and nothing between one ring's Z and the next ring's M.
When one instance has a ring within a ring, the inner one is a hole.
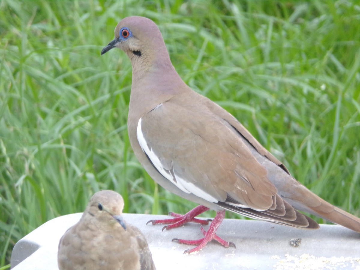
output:
M81 215L57 217L19 240L11 257L12 269L58 269L59 239ZM236 248L224 248L213 241L197 254L184 255L191 246L171 239L201 238L200 225L189 223L162 232L162 225L145 224L168 216L124 214L124 218L144 233L157 270L360 269L360 234L338 225L301 230L265 221L225 219L218 235L235 243ZM300 244L297 239L301 239Z

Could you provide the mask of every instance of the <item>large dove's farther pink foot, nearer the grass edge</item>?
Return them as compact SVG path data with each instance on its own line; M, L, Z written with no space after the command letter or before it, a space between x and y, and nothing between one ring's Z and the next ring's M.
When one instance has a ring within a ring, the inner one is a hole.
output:
M177 213L173 213L170 212L169 215L173 216L174 219L158 219L158 220L149 220L147 222L147 224L149 224L150 222L155 225L155 224L170 224L170 225L166 225L162 228L162 230L166 229L166 230L170 230L173 228L177 228L179 226L184 225L187 222L196 222L202 225L207 225L209 223L209 221L211 221L211 219L195 219L194 217L197 215L200 215L201 213L205 212L209 210L209 208L199 205L197 207L195 207L193 210L187 212L185 215L180 215Z

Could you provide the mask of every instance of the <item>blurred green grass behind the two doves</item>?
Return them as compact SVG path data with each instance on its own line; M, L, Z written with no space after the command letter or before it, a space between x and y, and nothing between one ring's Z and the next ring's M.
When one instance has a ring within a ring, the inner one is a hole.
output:
M125 212L195 206L154 184L132 153L130 60L100 57L130 15L158 24L195 91L360 216L359 1L0 0L0 269L20 238L82 212L99 189L121 193Z

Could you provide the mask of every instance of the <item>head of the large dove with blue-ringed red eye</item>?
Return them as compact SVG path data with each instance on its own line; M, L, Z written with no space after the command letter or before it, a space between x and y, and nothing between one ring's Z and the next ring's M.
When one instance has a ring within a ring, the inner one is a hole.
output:
M114 32L115 38L103 48L102 55L112 48L125 51L131 60L133 73L140 68L171 66L160 30L152 20L126 17L117 24Z

